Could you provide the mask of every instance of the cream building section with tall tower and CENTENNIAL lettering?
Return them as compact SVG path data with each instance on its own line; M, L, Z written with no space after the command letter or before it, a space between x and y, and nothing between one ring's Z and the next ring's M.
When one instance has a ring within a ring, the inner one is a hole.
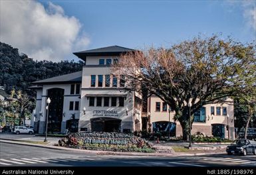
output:
M134 50L109 46L75 52L84 60L80 72L33 82L37 89L35 129L45 132L48 97L49 130L64 133L72 131L141 130L141 99L136 91L129 91L126 78L110 74L110 65L120 54Z

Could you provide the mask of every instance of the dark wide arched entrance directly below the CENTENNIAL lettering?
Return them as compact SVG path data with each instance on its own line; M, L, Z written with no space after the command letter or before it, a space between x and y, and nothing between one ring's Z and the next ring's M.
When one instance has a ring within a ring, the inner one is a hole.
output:
M99 117L90 119L92 131L96 132L120 132L121 127L120 119L114 119L110 117Z

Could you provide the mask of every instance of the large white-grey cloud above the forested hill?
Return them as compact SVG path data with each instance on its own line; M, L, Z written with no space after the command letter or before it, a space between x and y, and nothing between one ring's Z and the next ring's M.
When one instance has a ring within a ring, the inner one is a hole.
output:
M90 43L75 17L61 6L37 1L0 1L0 40L36 60L66 60Z

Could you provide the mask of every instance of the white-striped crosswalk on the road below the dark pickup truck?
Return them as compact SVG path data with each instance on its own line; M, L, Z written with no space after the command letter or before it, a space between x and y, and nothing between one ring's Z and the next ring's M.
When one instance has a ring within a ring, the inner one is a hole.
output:
M256 160L243 160L241 158L203 158L204 162L223 162L232 164L256 164Z

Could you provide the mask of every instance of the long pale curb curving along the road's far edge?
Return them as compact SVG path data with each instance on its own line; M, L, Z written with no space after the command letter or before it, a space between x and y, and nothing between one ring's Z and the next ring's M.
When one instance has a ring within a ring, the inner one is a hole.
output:
M209 154L223 154L225 152L192 152L192 153L183 153L183 152L173 152L173 153L146 153L146 152L111 152L111 151L104 151L104 150L82 150L76 148L66 148L66 147L59 147L59 146L50 146L50 145L39 145L33 143L19 143L15 140L11 139L0 139L0 143L10 143L14 145L27 145L27 146L35 146L39 148L49 148L55 150L67 150L73 152L87 152L90 154L98 154L98 155L123 155L123 156L201 156L201 155L209 155Z

